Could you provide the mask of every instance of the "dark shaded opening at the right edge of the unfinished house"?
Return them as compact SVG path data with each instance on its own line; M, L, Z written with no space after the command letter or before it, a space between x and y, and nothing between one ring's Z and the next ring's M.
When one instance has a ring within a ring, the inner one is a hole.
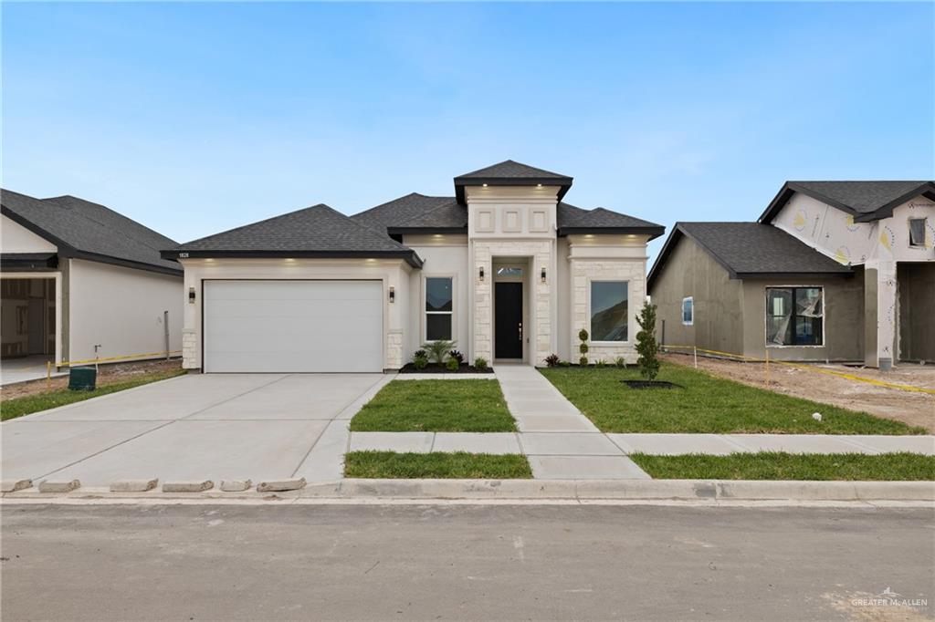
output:
M935 262L897 265L899 359L935 361Z

